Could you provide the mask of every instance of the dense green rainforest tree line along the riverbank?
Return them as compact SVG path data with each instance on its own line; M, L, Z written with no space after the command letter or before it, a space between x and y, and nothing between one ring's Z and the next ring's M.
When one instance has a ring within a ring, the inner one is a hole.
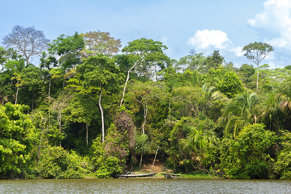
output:
M110 178L156 152L177 173L291 178L291 66L259 66L271 45L246 45L257 67L237 68L218 50L171 59L152 39L120 51L101 31L50 41L14 26L2 40L0 178Z

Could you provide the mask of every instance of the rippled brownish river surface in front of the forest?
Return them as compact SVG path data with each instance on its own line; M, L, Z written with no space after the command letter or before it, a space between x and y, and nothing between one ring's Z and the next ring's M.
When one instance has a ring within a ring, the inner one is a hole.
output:
M291 193L290 180L240 179L24 179L0 180L5 194Z

